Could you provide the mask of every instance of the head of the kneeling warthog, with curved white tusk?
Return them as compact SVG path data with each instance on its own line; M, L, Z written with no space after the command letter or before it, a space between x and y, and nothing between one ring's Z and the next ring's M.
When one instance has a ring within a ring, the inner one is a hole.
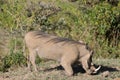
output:
M90 49L90 47L83 41L79 41L79 43L85 44L85 48L80 48L80 51L83 55L81 55L81 63L84 68L84 70L87 72L87 74L96 74L101 66L98 68L95 68L95 65L92 62L92 56L93 56L93 50Z

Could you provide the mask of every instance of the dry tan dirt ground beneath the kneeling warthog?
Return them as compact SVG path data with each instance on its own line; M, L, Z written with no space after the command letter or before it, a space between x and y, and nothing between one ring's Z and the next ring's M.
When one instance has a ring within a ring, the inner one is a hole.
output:
M31 72L26 67L0 72L0 80L120 80L120 59L95 59L94 63L102 66L96 75L86 75L79 65L73 67L75 75L68 77L57 62L49 61L38 64L39 72Z

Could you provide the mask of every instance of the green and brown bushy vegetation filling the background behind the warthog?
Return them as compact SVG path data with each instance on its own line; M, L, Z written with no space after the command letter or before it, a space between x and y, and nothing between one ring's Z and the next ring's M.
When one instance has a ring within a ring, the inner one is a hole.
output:
M95 58L120 57L117 0L0 0L0 28L10 37L6 43L9 55L0 64L11 66L26 60L23 37L30 30L82 40L93 48Z

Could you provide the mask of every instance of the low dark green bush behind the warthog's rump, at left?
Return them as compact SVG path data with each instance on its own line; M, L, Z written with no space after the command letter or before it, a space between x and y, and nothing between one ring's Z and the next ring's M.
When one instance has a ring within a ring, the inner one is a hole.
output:
M8 68L12 66L25 66L26 58L23 56L23 53L10 53L2 59L2 71L7 71Z

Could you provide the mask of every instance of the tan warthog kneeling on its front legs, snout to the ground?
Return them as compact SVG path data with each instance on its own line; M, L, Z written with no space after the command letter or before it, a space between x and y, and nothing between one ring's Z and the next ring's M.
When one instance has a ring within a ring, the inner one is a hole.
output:
M28 67L33 65L37 71L35 59L40 58L60 62L68 76L73 75L72 65L80 62L88 74L96 73L98 69L93 66L93 51L84 43L46 34L40 31L31 31L25 35L25 43L29 50Z

